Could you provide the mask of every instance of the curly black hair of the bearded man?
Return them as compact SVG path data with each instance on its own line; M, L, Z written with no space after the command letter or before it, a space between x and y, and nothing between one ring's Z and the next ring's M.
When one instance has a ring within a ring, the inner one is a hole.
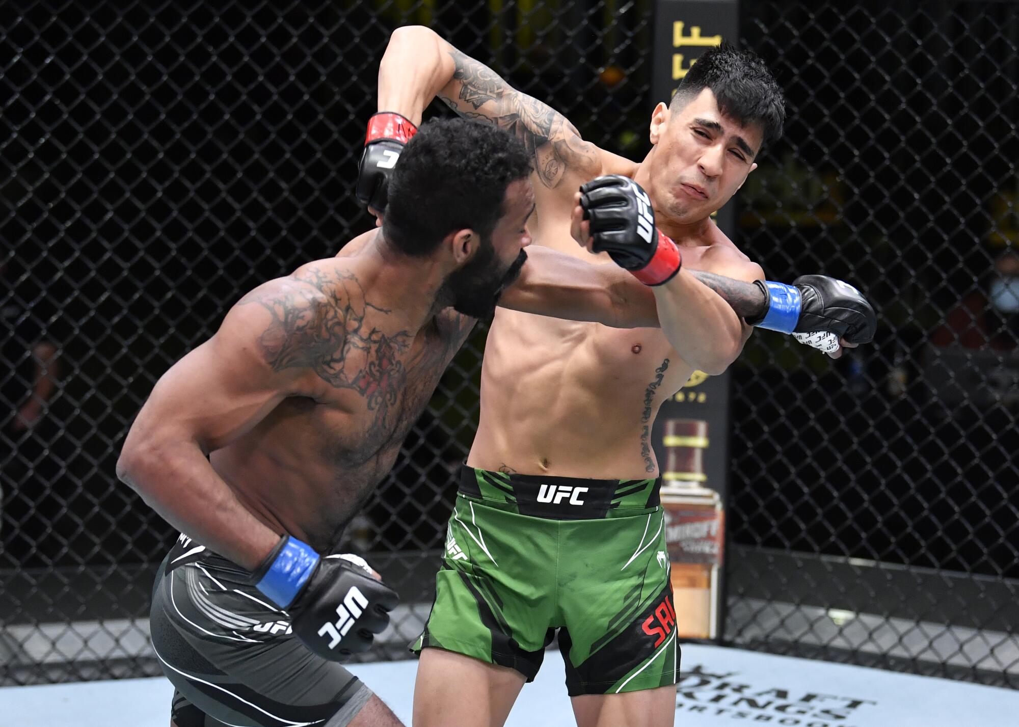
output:
M434 251L453 230L487 237L504 214L506 187L530 173L523 142L508 131L468 119L429 121L393 167L382 233L412 256Z

